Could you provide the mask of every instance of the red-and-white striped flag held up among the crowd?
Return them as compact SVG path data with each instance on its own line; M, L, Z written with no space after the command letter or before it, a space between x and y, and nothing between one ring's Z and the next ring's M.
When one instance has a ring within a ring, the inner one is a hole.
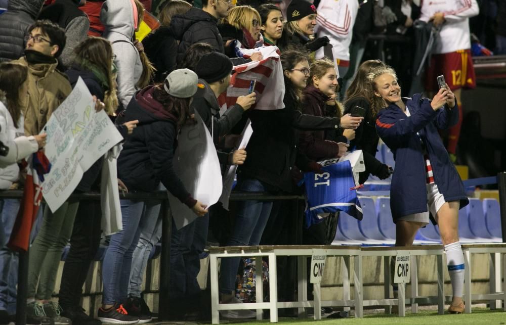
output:
M264 58L261 61L252 61L234 67L230 87L218 98L221 107L220 114L234 105L237 97L248 95L251 80L257 80L255 86L257 103L253 108L265 111L284 108L285 88L278 48L241 49L241 52L244 58L249 58L255 52L261 52Z

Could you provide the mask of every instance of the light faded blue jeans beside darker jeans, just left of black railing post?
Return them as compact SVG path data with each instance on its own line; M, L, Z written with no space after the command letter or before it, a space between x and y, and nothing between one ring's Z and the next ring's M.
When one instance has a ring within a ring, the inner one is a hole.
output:
M145 213L139 223L139 242L132 255L132 268L128 288L130 296L141 297L141 286L149 255L161 238L162 220L159 218L159 214L160 203L146 202Z

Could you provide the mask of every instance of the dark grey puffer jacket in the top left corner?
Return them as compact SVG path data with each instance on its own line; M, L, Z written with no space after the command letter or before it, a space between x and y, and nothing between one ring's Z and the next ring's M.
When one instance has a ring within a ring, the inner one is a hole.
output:
M42 8L44 0L9 0L0 19L0 62L23 56L24 37Z

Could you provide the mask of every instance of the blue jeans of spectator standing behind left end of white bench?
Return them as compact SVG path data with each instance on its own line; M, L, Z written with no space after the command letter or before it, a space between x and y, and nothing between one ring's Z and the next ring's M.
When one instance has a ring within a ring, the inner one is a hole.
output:
M246 192L264 192L265 187L257 179L239 180L237 189ZM272 201L243 201L235 216L235 225L227 246L258 245L272 210ZM230 294L235 290L239 257L223 258L220 267L220 292Z

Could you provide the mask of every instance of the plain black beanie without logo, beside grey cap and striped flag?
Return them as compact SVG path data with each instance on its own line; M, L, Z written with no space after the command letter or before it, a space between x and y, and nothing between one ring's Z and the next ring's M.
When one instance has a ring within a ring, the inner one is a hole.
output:
M232 61L226 55L219 52L211 52L200 58L195 72L199 78L212 83L229 75L233 67Z

